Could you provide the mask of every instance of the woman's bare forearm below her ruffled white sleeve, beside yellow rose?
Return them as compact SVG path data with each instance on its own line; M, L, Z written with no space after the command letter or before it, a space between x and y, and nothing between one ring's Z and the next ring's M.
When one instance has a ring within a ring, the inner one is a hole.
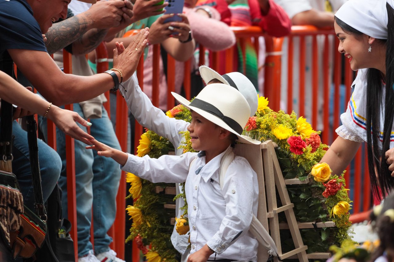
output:
M338 137L320 162L329 164L333 174L340 175L354 158L361 143Z

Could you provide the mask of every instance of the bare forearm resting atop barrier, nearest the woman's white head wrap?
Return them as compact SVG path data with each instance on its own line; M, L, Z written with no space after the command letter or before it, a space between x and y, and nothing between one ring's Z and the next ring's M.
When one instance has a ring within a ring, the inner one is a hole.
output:
M317 27L334 26L334 14L326 11L310 9L296 14L292 18L293 25L311 24Z

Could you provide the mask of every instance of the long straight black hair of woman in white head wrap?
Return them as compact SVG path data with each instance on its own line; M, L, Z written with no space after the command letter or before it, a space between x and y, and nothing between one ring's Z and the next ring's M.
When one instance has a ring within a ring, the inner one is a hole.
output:
M377 41L385 42L386 44L386 86L385 86L385 108L384 108L384 123L383 123L383 146L382 151L379 151L380 143L380 114L382 108L382 73L375 68L368 68L366 74L367 80L367 98L366 98L366 126L371 127L371 132L367 130L367 152L368 152L368 168L370 174L370 181L372 190L376 196L384 198L386 194L392 192L394 188L394 178L391 177L391 172L388 170L388 165L385 159L385 153L390 149L390 136L394 118L394 9L389 4L386 4L388 15L388 37L387 41L384 39L377 39ZM342 20L335 17L335 21L347 33L361 37L363 33ZM373 55L373 54L371 54ZM377 175L376 175L377 174Z

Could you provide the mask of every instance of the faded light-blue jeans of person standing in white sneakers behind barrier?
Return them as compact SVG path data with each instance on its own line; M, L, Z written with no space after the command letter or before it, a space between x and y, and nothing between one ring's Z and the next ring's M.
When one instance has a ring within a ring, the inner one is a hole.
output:
M74 112L84 117L79 104L73 105ZM40 118L40 128L47 136L46 120ZM113 130L107 111L102 108L102 118L91 119L91 135L98 141L116 149L121 149ZM79 125L79 124L78 124ZM79 125L84 131L86 127ZM67 217L67 177L65 135L56 129L57 150L62 159L59 185L63 190L63 216ZM78 227L78 256L86 255L93 249L90 242L91 211L93 205L93 227L95 253L110 249L112 238L107 232L115 220L116 194L119 188L121 170L119 164L111 158L101 157L96 151L85 149L85 144L75 140L75 177L76 177L76 212Z

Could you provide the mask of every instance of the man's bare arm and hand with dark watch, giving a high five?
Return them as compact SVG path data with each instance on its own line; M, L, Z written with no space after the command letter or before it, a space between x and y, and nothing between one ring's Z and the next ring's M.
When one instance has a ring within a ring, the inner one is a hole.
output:
M114 68L123 72L123 81L130 78L136 70L148 35L149 31L141 30L136 41L125 52L117 55L115 51ZM9 49L8 52L24 76L55 105L89 100L110 90L114 85L112 76L106 73L94 76L64 74L46 52L20 49ZM115 74L120 81L119 72Z

